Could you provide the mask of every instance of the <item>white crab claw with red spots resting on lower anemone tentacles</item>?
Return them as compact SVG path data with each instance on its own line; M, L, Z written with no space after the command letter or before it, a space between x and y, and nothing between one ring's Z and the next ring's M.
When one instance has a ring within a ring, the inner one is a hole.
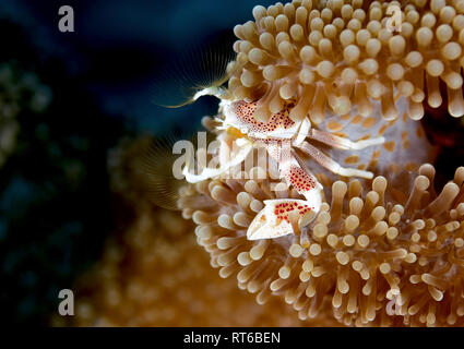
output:
M305 200L293 198L266 200L264 205L248 227L248 240L275 239L296 233L317 217L320 208L310 206Z

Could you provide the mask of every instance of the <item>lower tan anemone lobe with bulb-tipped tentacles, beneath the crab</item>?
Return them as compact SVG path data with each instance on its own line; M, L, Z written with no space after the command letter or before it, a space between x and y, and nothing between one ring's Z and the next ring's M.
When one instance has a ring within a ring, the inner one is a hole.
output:
M336 181L314 224L273 240L247 240L248 226L263 201L299 195L272 192L270 180L188 184L179 206L219 275L236 275L260 304L277 294L301 320L329 301L345 325L462 326L464 168L438 193L433 177L423 165L414 180L377 177L371 190Z

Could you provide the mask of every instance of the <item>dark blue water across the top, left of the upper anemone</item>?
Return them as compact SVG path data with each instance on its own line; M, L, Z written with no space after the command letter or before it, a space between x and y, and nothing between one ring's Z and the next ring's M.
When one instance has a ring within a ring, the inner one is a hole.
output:
M269 5L265 0L259 4ZM199 127L215 111L214 99L166 110L152 101L160 67L191 46L231 37L236 24L252 20L250 0L93 0L67 1L75 32L58 31L62 1L2 0L0 17L22 23L41 47L85 79L103 108L133 122L138 130L163 134ZM187 122L186 122L187 121Z

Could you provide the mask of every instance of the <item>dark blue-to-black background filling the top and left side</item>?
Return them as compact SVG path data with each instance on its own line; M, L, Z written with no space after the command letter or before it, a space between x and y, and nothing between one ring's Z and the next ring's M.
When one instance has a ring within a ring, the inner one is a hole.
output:
M61 5L74 10L74 33L58 29ZM51 92L45 111L21 108L16 146L0 168L3 323L49 324L59 290L98 260L105 237L131 215L110 191L108 152L124 136L191 133L202 116L214 115L213 97L157 106L156 88L166 81L158 76L192 47L231 43L234 25L252 20L254 5L0 0L0 64L34 73Z

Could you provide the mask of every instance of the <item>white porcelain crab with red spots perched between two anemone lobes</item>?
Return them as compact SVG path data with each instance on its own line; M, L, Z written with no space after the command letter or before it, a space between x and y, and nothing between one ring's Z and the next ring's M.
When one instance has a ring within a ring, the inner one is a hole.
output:
M264 147L267 151L278 166L279 178L305 196L305 200L265 201L264 208L248 228L249 240L272 239L295 233L295 225L301 221L308 225L317 217L322 204L322 185L300 161L295 149L300 149L334 173L367 179L373 177L373 173L369 171L340 166L308 141L316 140L340 149L356 151L382 144L383 137L352 142L317 130L311 128L308 117L298 122L290 118L289 112L294 106L294 101L286 101L281 112L272 115L266 122L261 122L253 117L258 107L257 103L223 100L219 106L221 117L216 119L219 122L217 129L225 131L217 137L221 142L219 167L204 168L199 174L191 173L189 166L183 168L188 182L200 182L221 176L231 167L241 164L253 147Z

